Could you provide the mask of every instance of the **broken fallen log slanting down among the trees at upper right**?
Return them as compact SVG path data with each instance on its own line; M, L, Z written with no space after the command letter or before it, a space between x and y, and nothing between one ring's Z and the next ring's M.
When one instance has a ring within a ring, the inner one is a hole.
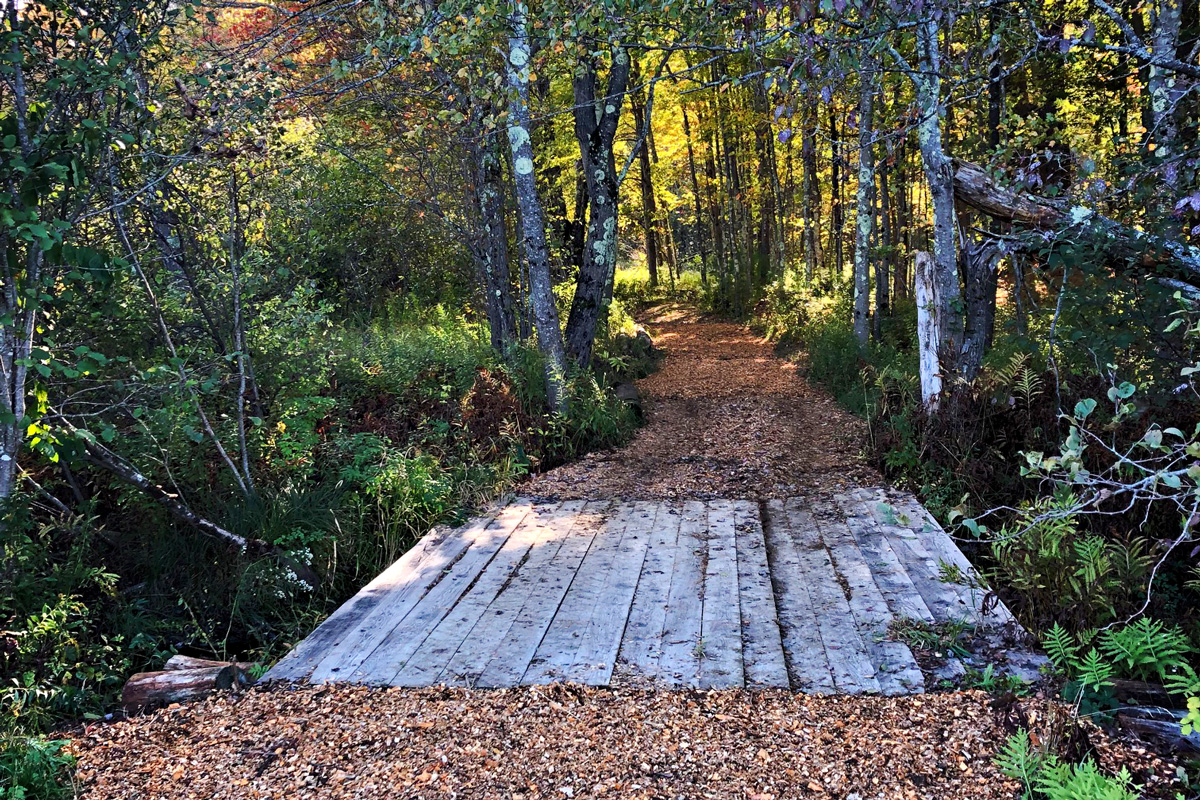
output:
M1144 267L1174 264L1190 282L1200 282L1200 249L1109 219L1082 205L1000 186L978 164L954 160L954 199L992 218L1034 230L1093 225L1109 236L1121 255Z

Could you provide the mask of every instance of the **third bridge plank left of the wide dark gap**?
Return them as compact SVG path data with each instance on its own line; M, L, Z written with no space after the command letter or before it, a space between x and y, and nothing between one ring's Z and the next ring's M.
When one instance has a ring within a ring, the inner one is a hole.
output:
M707 525L708 509L703 503L689 500L683 504L659 656L658 681L666 686L700 686Z

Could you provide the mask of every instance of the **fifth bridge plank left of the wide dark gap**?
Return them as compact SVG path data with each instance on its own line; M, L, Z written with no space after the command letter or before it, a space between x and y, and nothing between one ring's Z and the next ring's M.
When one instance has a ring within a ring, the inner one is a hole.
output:
M634 513L620 537L617 559L608 572L600 602L593 607L592 619L578 639L575 661L566 680L589 686L604 686L612 680L634 594L637 591L655 519L661 509L661 503L634 504Z

